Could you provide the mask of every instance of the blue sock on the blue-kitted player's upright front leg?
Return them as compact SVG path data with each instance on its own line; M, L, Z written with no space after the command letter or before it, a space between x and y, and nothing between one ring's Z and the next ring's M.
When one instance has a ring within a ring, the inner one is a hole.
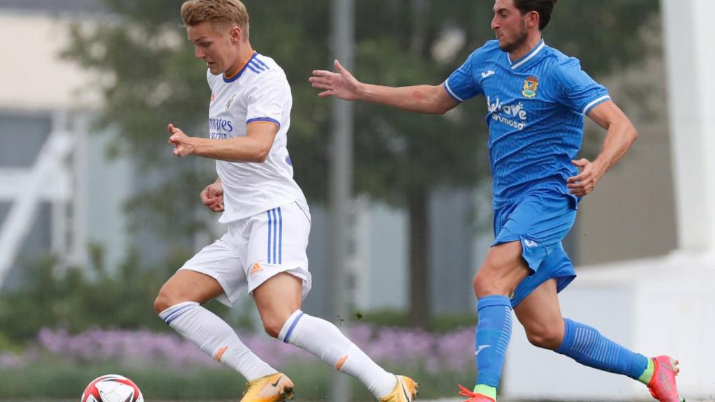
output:
M480 298L475 334L477 385L496 388L504 366L504 354L511 338L511 302L501 295Z

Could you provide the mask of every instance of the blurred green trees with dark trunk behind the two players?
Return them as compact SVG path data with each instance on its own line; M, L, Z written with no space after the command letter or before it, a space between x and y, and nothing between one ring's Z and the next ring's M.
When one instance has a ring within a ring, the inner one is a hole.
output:
M210 94L204 66L194 60L185 39L181 0L105 1L116 18L99 26L75 25L66 57L99 73L96 84L104 95L99 126L119 133L112 152L131 155L146 175L158 178L129 203L134 221L167 242L178 241L202 225L205 215L191 212L197 192L215 173L203 162L174 160L165 127L173 122L190 134L205 134ZM252 44L274 57L292 82L290 150L296 180L310 200L322 202L327 196L330 103L317 98L307 77L312 69L331 65L330 1L245 4L253 23ZM473 0L358 1L356 76L395 86L442 82L493 36L492 5ZM642 56L638 31L657 9L652 0L561 1L545 36L548 44L581 58L586 71L599 76ZM360 104L356 112L355 191L408 210L409 317L414 325L426 326L429 196L444 186L473 188L488 175L483 108L470 104L432 117Z

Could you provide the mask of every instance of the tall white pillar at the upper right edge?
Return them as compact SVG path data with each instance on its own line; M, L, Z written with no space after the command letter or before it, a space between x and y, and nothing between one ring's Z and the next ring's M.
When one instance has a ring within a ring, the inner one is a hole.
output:
M661 0L679 247L715 250L715 33L711 0Z

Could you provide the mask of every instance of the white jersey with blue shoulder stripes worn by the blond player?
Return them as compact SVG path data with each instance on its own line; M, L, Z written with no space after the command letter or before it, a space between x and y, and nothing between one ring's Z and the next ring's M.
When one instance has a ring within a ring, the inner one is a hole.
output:
M210 138L243 137L252 122L278 127L265 162L216 161L225 208L219 221L233 222L291 202L309 214L286 148L293 100L283 69L270 57L254 53L234 77L207 72L207 79L212 92Z

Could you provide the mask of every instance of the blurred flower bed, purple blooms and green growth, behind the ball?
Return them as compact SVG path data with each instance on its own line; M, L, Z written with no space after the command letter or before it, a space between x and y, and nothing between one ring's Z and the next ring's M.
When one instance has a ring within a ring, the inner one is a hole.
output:
M455 381L475 376L473 329L433 334L419 329L354 325L350 337L393 373L420 381L420 396L453 393ZM332 367L303 350L267 335L241 334L267 363L287 373L302 400L329 395ZM139 384L147 400L235 399L240 376L220 366L178 335L148 330L41 330L36 343L20 355L0 353L0 400L76 398L93 378L121 373ZM372 396L354 381L355 400Z

